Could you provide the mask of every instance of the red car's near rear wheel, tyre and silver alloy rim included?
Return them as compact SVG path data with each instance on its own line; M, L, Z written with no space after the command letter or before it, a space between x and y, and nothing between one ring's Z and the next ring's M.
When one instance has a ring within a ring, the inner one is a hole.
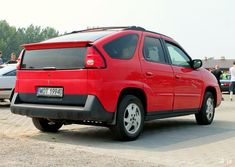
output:
M141 101L132 95L124 96L117 109L116 125L110 127L118 140L132 141L143 131L144 108Z

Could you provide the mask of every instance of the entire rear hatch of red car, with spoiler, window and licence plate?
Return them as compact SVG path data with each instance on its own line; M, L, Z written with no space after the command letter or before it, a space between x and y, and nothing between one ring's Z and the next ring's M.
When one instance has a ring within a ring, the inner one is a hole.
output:
M16 92L24 103L84 106L90 42L55 42L25 45Z

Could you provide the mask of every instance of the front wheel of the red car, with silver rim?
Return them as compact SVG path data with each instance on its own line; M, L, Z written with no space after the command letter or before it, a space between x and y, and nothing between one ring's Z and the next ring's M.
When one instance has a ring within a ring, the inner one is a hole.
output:
M199 113L195 114L197 124L209 125L212 123L215 115L215 101L211 92L206 92Z

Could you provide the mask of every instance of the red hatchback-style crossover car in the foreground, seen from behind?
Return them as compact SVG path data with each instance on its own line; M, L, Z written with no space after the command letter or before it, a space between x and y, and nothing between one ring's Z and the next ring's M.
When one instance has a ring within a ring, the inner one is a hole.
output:
M135 140L148 120L195 114L198 124L211 124L221 103L201 60L141 27L77 31L23 47L11 111L44 132L92 124Z

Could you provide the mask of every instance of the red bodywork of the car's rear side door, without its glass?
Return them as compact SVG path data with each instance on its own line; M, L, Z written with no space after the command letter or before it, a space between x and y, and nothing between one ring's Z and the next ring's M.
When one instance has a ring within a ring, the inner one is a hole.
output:
M144 36L161 38L160 35L152 33L144 33ZM144 59L142 49L144 36L142 37L139 57L144 77L144 90L148 99L147 111L172 111L174 100L172 67L169 64L150 62Z

